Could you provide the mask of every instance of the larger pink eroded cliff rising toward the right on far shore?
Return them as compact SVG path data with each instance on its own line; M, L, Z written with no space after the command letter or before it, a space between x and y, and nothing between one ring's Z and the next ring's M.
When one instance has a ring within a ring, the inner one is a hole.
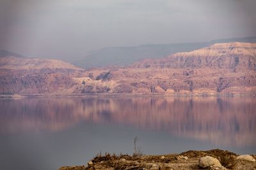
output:
M255 94L255 71L255 43L221 43L163 59L142 60L129 67L102 70L100 73L99 69L88 71L91 78L84 83L85 88L80 88L83 92L93 92L93 87L99 83L92 84L101 80L105 85L114 81L112 85L106 85L108 92L114 93ZM90 90L88 86L91 86Z

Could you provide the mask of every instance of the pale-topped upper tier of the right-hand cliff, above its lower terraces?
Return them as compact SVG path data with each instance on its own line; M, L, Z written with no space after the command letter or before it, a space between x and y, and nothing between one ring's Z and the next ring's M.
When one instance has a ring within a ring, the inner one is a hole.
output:
M164 59L143 60L134 67L167 67L196 69L231 69L232 71L256 71L255 43L221 43L195 50L193 52L175 53Z

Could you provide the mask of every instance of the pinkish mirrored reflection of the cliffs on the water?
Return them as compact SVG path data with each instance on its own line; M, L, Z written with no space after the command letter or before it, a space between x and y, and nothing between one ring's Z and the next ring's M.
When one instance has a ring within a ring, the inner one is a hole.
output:
M0 132L61 131L79 122L131 125L150 131L253 146L255 97L85 97L0 101Z

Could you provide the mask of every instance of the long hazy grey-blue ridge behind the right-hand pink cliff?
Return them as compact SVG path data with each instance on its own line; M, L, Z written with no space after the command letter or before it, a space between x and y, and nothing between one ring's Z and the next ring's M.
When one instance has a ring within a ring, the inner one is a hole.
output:
M71 61L75 66L106 67L106 66L128 66L133 62L143 59L159 59L177 52L190 52L215 43L230 42L256 43L256 37L217 39L201 43L171 43L163 45L140 45L140 46L116 46L102 48L86 53L83 59Z

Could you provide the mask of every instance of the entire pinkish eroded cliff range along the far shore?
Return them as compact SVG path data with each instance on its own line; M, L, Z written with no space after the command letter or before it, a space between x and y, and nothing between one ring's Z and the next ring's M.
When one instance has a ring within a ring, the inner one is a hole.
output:
M19 62L6 60L0 64L2 93L35 93L40 89L37 92L65 94L256 94L256 43L220 43L128 67L86 71L53 61L37 67L37 62L28 60L24 69ZM26 76L17 78L19 69L27 70ZM26 87L28 82L31 85Z

